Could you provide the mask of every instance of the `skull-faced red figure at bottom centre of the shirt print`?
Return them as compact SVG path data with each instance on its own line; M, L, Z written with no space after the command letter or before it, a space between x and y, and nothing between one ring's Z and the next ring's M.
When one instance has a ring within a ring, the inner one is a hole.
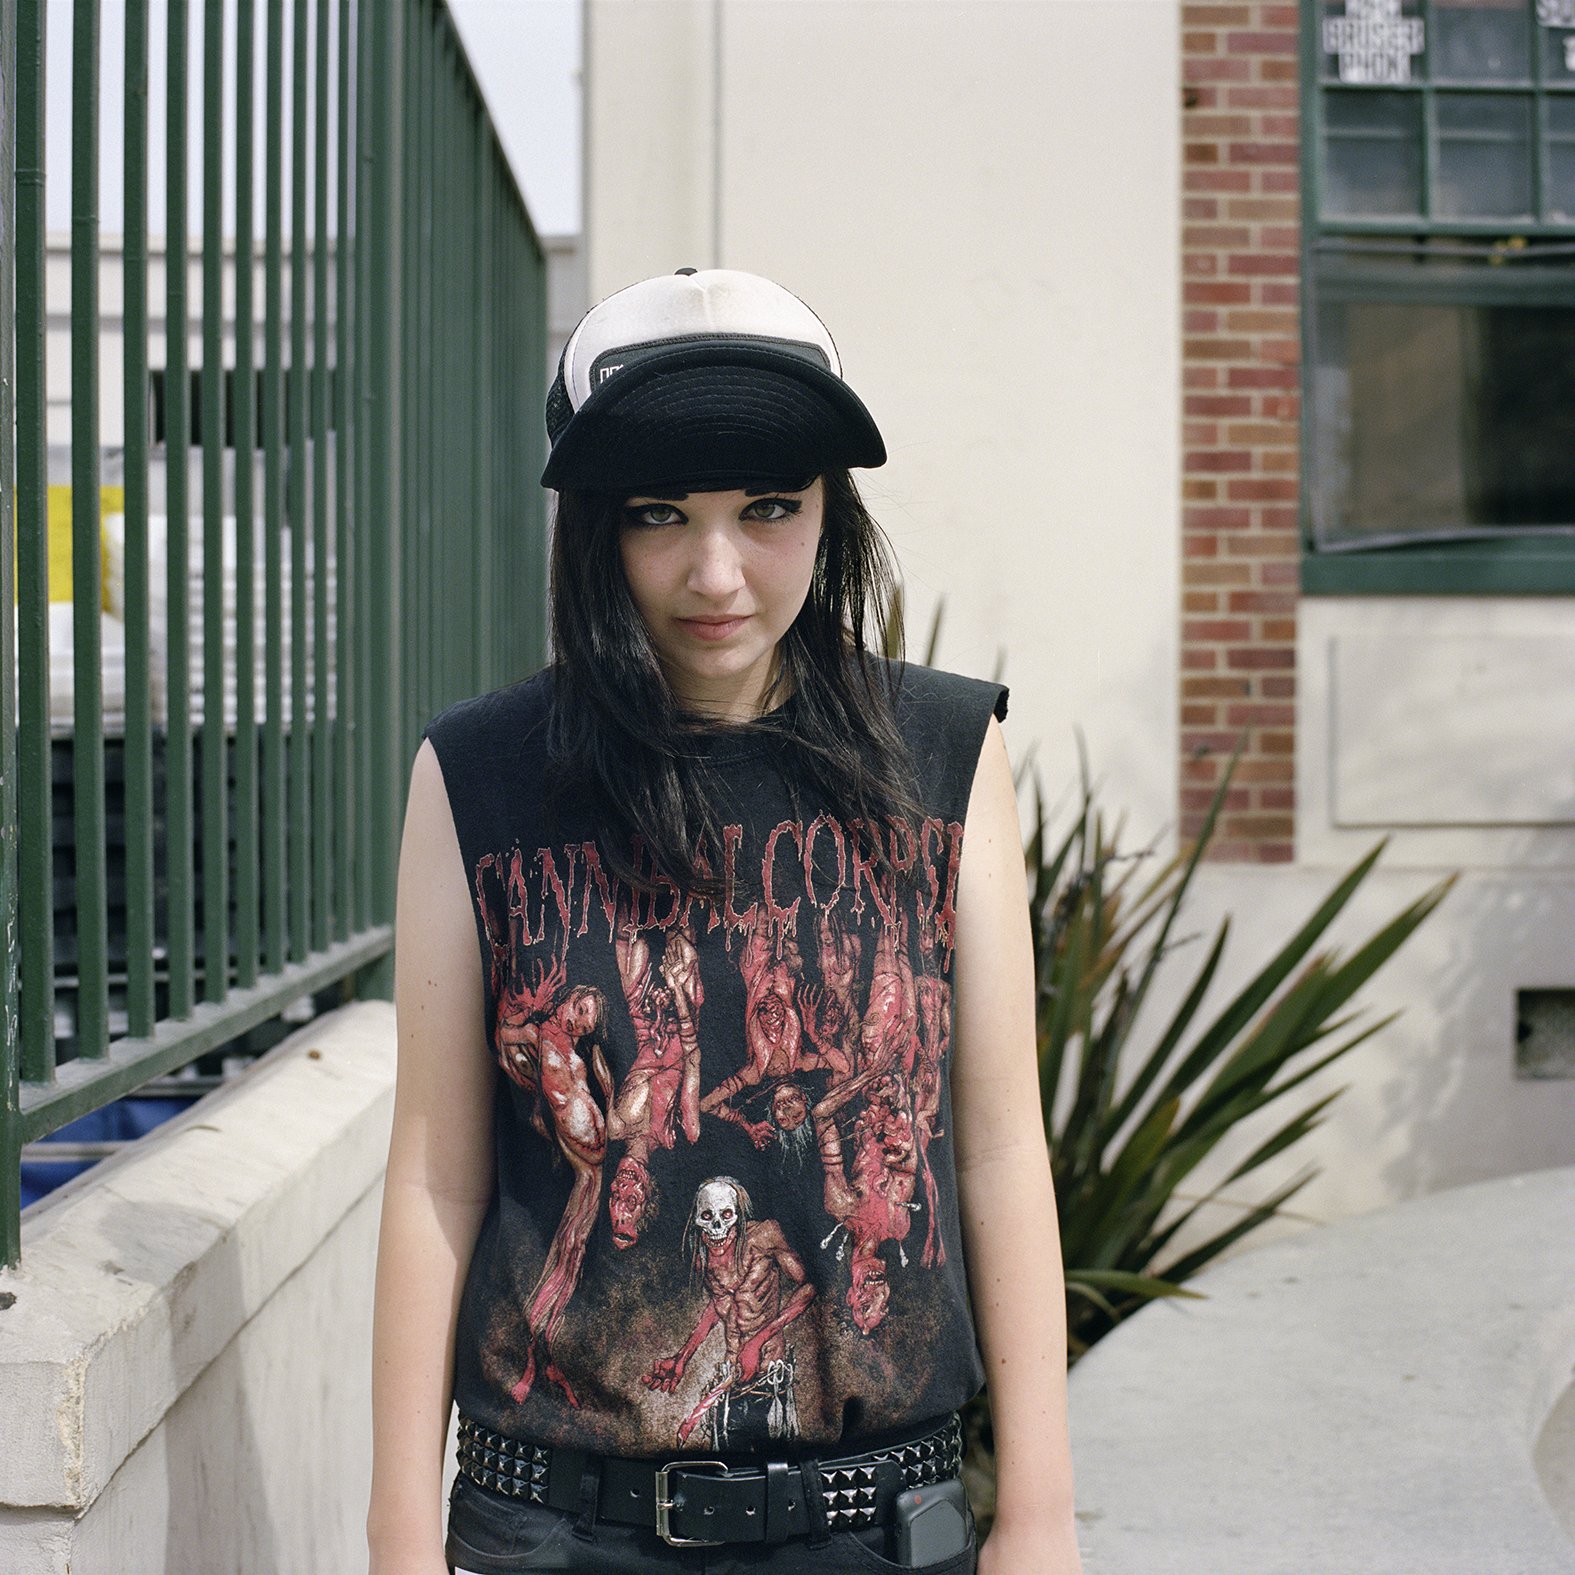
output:
M762 1432L797 1436L794 1361L784 1331L814 1301L814 1285L781 1227L753 1217L750 1194L732 1177L712 1177L695 1194L684 1251L704 1280L706 1309L684 1348L657 1361L644 1383L674 1394L718 1325L723 1356L679 1424L679 1444L701 1422L709 1422L713 1449L758 1440Z

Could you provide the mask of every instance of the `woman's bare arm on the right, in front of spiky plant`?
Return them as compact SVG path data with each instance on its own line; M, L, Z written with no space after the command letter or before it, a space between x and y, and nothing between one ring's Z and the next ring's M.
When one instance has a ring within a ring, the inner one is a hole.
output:
M1066 1293L1040 1114L1017 799L995 721L969 797L956 915L953 1147L997 1468L980 1572L1074 1575Z

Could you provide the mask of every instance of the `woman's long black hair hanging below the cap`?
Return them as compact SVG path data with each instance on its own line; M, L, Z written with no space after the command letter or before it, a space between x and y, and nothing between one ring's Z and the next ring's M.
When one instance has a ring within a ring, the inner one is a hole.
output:
M876 827L917 816L914 762L898 732L898 665L871 657L865 638L888 649L887 608L896 570L880 526L847 471L822 477L824 518L810 595L780 644L767 713L743 726L784 743L789 791L813 792L844 824L862 822L869 857L887 865ZM715 723L680 709L619 553L624 496L564 491L553 531L553 712L548 753L559 810L589 806L613 833L605 857L643 890L639 836L655 871L685 891L715 896L721 880L720 824L710 772L696 745ZM776 699L792 696L783 712Z

